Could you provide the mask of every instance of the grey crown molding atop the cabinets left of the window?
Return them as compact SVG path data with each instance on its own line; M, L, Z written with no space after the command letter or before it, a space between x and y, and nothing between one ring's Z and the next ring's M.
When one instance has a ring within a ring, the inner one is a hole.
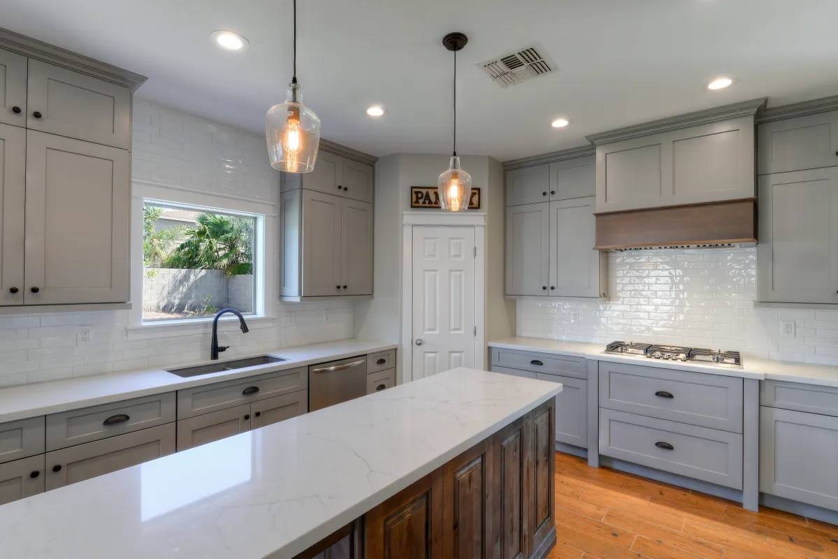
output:
M131 91L136 91L137 87L148 79L144 75L117 68L100 60L61 49L8 29L0 28L0 48L23 54L23 56L29 58L43 60L49 64L65 66L82 74L92 75L100 80L112 81L127 87Z

